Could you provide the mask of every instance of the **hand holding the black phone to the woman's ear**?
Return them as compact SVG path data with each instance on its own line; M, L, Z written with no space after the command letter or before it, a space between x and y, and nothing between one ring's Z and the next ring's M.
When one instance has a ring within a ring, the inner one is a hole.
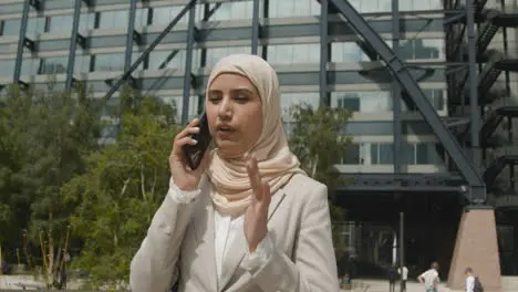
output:
M201 175L204 174L205 169L207 169L210 161L209 149L207 149L204 154L201 164L198 166L198 168L193 170L187 165L184 152L182 150L184 145L196 145L197 140L193 139L190 136L199 132L198 125L199 119L195 118L175 136L173 150L169 155L170 175L176 186L182 190L194 190L198 188Z

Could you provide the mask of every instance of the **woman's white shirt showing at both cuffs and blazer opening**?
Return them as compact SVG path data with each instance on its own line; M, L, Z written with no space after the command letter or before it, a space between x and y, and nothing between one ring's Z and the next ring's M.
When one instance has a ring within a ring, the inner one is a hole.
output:
M169 188L174 190L169 191L169 194L173 194L173 199L177 204L191 204L198 198L200 194L199 189L190 191L178 189L173 179L169 181ZM218 280L221 279L221 269L225 259L227 258L228 248L231 246L230 243L236 239L239 232L244 232L244 215L232 218L231 216L219 213L216 210L214 212L215 260L216 274ZM266 238L259 242L253 253L247 252L247 255L242 262L244 268L252 273L259 270L268 263L268 260L272 253L272 249L273 243L267 233Z

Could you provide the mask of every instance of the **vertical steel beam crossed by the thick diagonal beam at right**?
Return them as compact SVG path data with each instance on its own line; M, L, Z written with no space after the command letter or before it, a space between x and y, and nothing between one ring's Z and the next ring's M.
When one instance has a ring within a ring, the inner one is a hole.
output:
M395 55L400 55L400 0L392 0L392 50ZM377 54L376 54L377 55ZM394 173L402 171L402 125L401 125L401 86L397 82L392 83L392 124L393 124L393 152L394 152Z

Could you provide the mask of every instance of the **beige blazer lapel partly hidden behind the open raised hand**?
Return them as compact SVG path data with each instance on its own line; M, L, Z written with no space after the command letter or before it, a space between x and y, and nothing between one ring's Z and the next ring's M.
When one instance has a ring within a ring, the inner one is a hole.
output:
M270 206L268 207L268 221L270 221L271 217L277 211L279 205L282 202L284 197L286 194L282 190L282 188L279 189L274 194L274 196L271 197ZM242 231L242 233L240 233L240 236L236 237L236 240L230 242L230 247L228 248L228 250L229 252L227 254L227 258L224 260L224 264L221 267L221 279L220 284L218 285L219 291L222 291L225 288L227 288L227 284L229 283L234 273L239 268L239 264L245 258L245 254L247 253L248 242L245 237L245 230Z

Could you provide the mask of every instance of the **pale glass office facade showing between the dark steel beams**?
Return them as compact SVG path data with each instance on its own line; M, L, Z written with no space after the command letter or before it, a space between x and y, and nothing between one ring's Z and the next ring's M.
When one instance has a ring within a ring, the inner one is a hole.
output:
M0 84L12 82L20 35L23 1L2 1L0 6ZM74 1L46 0L42 10L31 7L27 24L27 38L34 40L35 50L25 49L21 63L21 81L44 88L49 77L55 76L56 87L63 87L69 62L69 46L74 18ZM110 90L106 80L123 74L125 64L126 35L130 18L128 0L92 1L90 8L83 1L79 33L87 40L84 49L77 45L73 74L85 81L99 96ZM201 1L200 1L201 2ZM210 66L230 53L251 52L252 1L207 1L211 7L222 4L201 22L205 6L196 6L196 25L207 30L207 38L193 48L193 73L206 76ZM268 7L260 1L260 14L267 38L260 40L259 54L276 67L282 84L282 107L286 115L293 104L318 105L320 35L320 3L315 0L269 0ZM174 4L172 4L174 3ZM132 60L177 15L187 1L137 1L135 31L142 40L133 44ZM366 13L369 22L392 46L392 0L351 1ZM445 38L441 0L401 0L403 28L401 40L402 58L416 63L416 74L433 69L422 87L441 115L447 115L445 82ZM267 11L265 11L267 10ZM393 171L392 149L392 97L391 77L365 72L380 71L380 63L372 62L355 42L356 35L340 19L330 19L330 63L334 81L329 84L330 105L346 107L354 112L348 134L355 137L343 163L344 171L385 173ZM138 66L134 77L142 91L175 101L179 111L183 106L183 79L185 75L186 30L188 13ZM177 53L170 58L173 51ZM374 74L375 75L375 74ZM379 79L376 81L376 79ZM203 79L201 79L203 80ZM194 88L188 113L197 114L199 96L204 86ZM402 104L404 157L408 171L433 173L444 169L442 158L435 150L435 138L431 129L419 121L412 108ZM287 117L288 118L288 117Z

